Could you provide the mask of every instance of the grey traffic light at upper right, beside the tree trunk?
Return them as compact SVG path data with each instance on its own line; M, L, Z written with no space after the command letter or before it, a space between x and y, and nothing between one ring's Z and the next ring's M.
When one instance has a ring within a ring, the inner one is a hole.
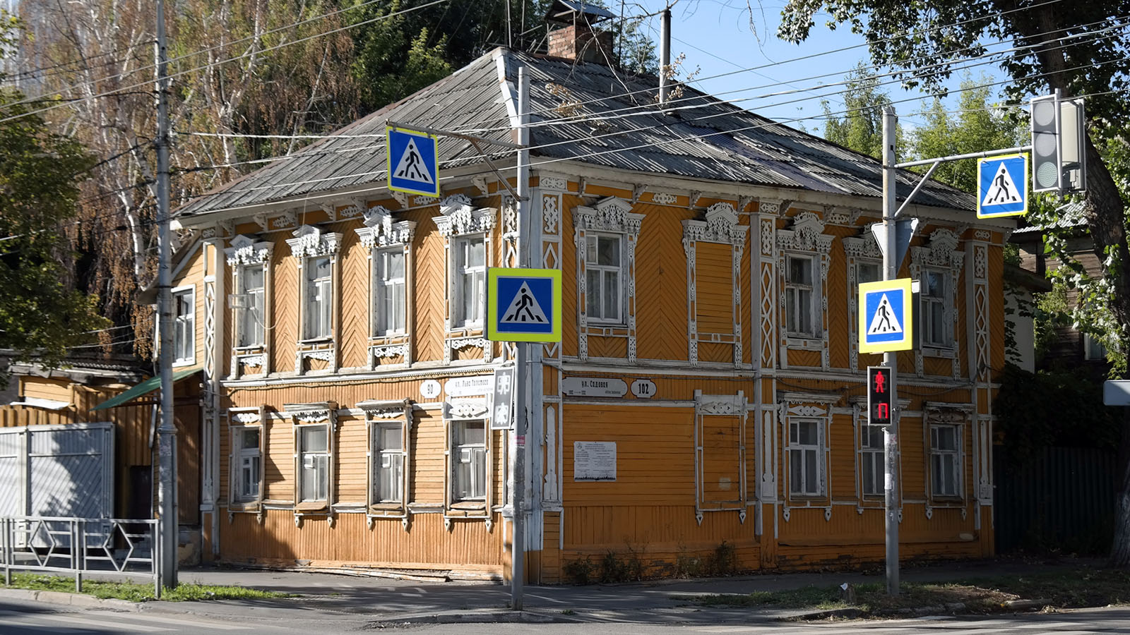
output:
M1083 99L1057 90L1032 99L1032 191L1081 192L1087 186Z

